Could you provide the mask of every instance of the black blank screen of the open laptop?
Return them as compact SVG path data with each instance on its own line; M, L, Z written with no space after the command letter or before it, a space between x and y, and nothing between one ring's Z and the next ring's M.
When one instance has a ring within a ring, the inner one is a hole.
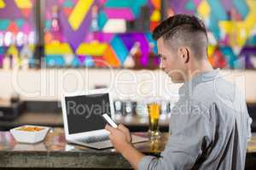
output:
M70 134L100 130L106 126L102 114L111 116L108 94L65 97Z

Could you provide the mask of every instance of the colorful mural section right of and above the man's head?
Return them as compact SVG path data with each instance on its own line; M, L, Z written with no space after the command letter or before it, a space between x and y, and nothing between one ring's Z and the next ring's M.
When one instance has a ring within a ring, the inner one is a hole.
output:
M255 0L172 0L172 14L196 14L206 23L214 67L256 68Z

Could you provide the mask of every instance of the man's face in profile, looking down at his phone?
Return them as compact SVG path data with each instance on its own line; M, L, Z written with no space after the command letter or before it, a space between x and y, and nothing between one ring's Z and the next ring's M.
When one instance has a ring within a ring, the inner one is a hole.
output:
M157 40L158 54L160 55L160 68L171 77L172 82L184 82L184 64L178 56L177 49L160 37Z

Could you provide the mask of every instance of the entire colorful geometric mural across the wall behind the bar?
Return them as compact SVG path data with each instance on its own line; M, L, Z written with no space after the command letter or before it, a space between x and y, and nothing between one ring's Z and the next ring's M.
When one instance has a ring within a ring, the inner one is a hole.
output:
M166 2L168 15L196 14L205 21L210 40L208 54L214 67L256 68L255 0ZM4 55L32 57L34 3L34 0L0 0L0 67ZM46 65L104 67L108 63L123 68L135 42L140 42L140 62L147 68L149 43L155 44L150 31L159 24L163 13L161 0L45 0L44 3ZM142 9L146 13L142 14ZM123 31L111 32L113 26L123 26Z

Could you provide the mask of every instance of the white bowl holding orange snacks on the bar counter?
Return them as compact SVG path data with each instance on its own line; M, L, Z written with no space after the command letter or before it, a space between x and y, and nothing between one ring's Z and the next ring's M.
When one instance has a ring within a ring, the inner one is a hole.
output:
M40 127L32 125L24 125L21 127ZM49 131L49 127L42 127L40 131L24 131L18 130L20 127L10 129L10 133L15 137L15 140L20 143L35 144L44 140L46 134Z

